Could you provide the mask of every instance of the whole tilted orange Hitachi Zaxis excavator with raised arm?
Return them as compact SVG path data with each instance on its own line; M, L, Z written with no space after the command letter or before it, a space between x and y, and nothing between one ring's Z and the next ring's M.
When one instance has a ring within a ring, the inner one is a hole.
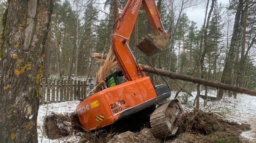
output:
M156 106L171 95L168 86L155 86L150 77L145 75L129 47L129 38L141 4L155 35L145 36L137 47L147 56L154 56L168 47L169 35L164 30L155 1L128 0L113 26L115 31L111 36L112 49L121 71L108 75L105 80L107 88L89 96L76 108L85 131L113 124L143 109ZM164 138L177 132L178 127L173 123L181 111L182 107L177 99L157 106L150 115L151 128L156 138Z

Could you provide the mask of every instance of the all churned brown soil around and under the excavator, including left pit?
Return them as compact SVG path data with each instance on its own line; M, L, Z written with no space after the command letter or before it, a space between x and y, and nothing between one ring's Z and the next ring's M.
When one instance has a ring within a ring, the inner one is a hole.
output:
M130 142L253 142L240 136L243 131L250 130L248 124L238 124L233 121L220 118L216 114L206 113L200 110L186 112L178 117L177 126L180 126L179 132L172 137L157 139L154 137L148 118L144 118L144 126L136 124L129 130L128 125L123 130L114 130L114 127L120 127L127 123L127 120L119 124L113 124L109 127L84 132L80 127L76 113L53 114L47 116L45 121L45 133L50 139L72 138L78 136L75 142L110 142L110 143L130 143ZM131 119L129 120L131 121ZM137 120L138 121L138 120ZM136 120L129 122L136 122ZM122 127L120 127L122 128ZM140 130L138 130L140 129Z

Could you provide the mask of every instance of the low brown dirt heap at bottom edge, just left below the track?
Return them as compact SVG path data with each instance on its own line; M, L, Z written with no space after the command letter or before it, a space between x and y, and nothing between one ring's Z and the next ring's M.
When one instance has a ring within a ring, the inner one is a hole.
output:
M130 142L161 142L156 139L151 129L145 128L140 132L124 132L119 135L115 135L110 141L110 143L130 143Z

